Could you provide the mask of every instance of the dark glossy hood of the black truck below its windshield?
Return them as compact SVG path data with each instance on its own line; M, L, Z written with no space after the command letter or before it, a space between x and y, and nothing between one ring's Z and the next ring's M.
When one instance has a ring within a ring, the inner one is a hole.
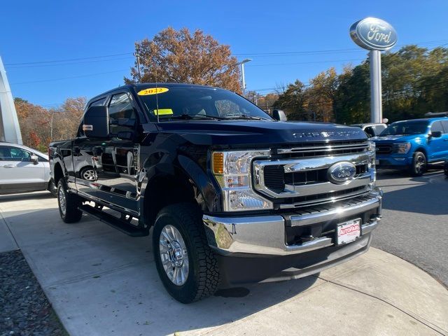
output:
M297 144L307 141L367 139L363 130L358 127L329 123L269 120L176 120L158 123L157 127L160 133L176 134L197 145L265 146L266 144Z

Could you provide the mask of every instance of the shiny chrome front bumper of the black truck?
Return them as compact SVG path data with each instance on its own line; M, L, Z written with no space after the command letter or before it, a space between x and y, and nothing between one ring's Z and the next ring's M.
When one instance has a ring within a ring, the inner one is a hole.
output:
M363 202L346 200L325 211L290 216L288 225L313 225L341 220L377 209L376 215L361 225L361 238L377 227L381 218L381 190L365 197ZM244 253L253 255L294 255L335 245L335 239L321 237L303 244L286 244L286 219L280 215L251 217L203 216L207 239L219 255ZM352 244L352 243L351 243Z

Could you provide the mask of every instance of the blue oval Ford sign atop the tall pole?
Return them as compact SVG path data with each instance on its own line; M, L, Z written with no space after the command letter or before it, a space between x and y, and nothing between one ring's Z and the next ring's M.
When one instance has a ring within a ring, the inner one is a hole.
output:
M367 50L388 50L397 43L397 32L386 21L365 18L350 27L351 39Z

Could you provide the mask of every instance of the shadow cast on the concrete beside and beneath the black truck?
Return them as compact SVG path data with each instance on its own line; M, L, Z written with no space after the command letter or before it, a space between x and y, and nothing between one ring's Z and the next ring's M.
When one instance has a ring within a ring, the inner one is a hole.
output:
M40 197L36 201L41 202ZM31 211L2 207L2 216L72 335L205 332L323 282L307 276L258 283L181 304L169 296L158 277L151 235L128 237L89 216L83 216L79 223L65 224L59 218L56 200L44 203L48 204L43 204L45 209Z

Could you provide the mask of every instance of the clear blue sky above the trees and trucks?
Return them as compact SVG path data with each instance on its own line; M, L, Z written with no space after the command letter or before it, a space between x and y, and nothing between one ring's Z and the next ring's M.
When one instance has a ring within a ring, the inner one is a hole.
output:
M349 38L356 20L381 18L398 31L398 45L434 48L448 43L447 15L447 0L3 1L0 55L13 96L52 107L122 85L135 41L188 27L230 45L239 59L251 57L247 89L267 93L365 59ZM321 50L339 51L314 52ZM269 52L304 53L260 55ZM116 56L29 64L104 55Z

